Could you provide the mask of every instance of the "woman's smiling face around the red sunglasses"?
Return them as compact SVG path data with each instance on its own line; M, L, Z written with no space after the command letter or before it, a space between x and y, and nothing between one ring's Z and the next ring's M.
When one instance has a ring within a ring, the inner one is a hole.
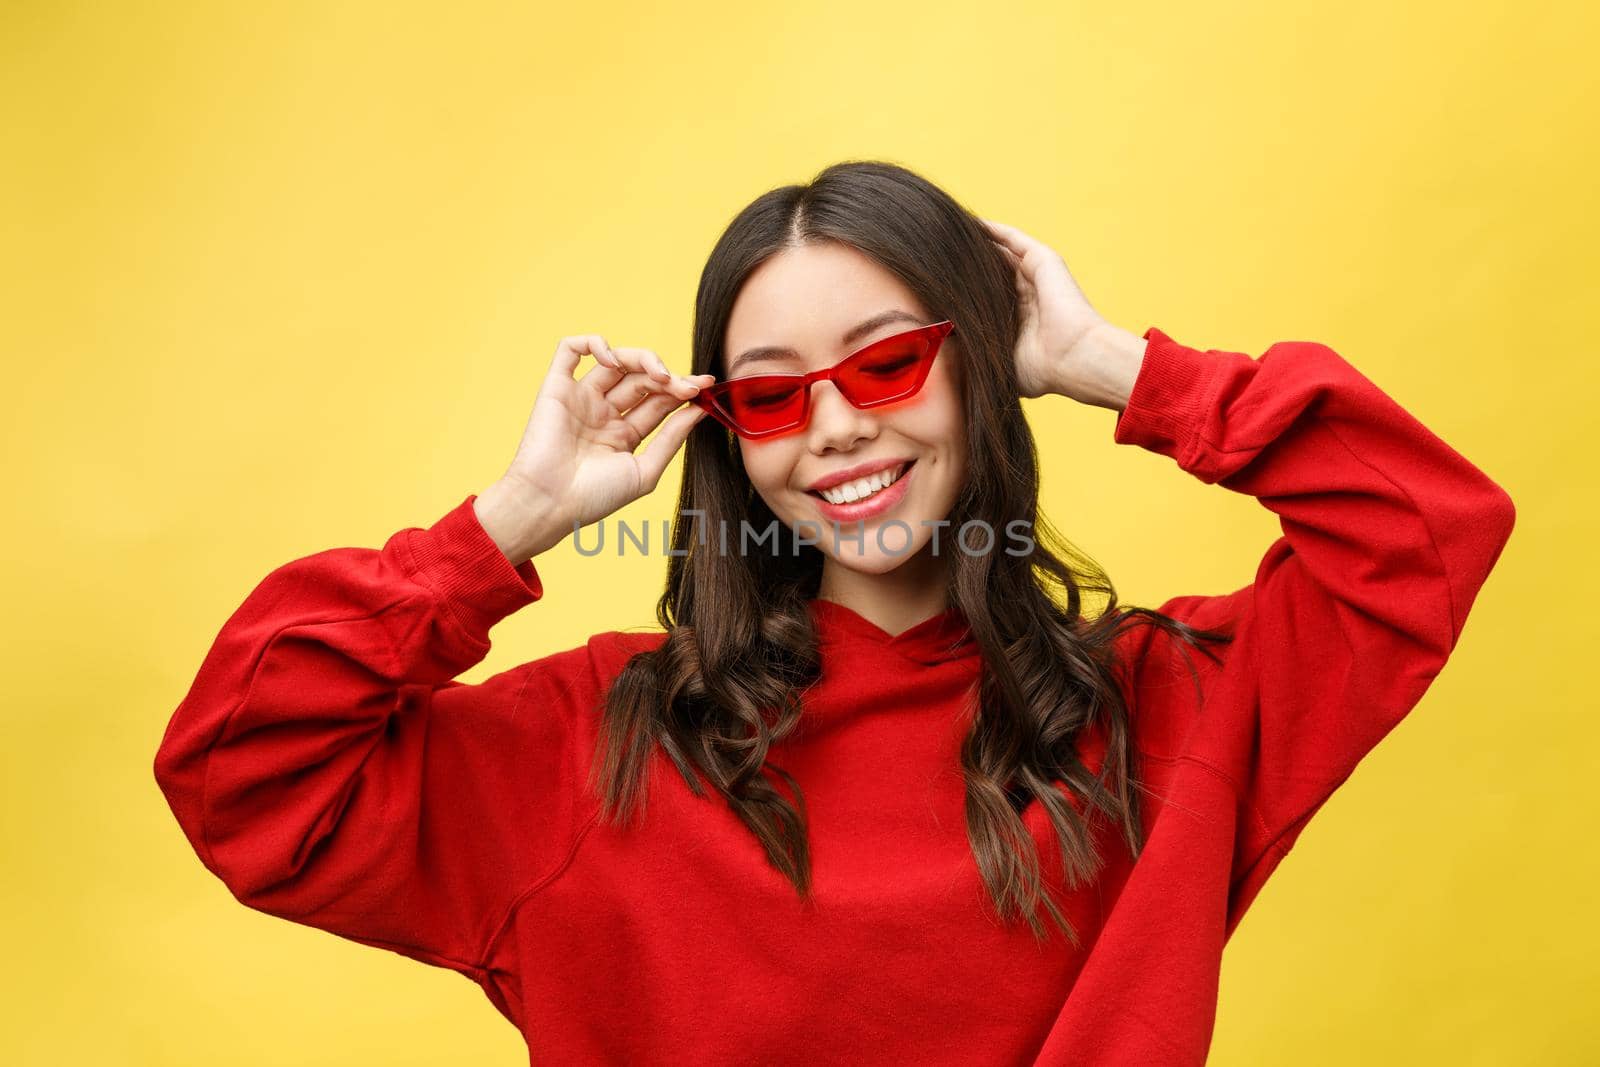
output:
M790 248L757 267L739 291L718 378L822 370L933 322L910 290L864 253L838 242ZM794 354L739 358L758 347ZM891 571L928 545L931 523L949 517L966 478L960 334L944 339L928 379L906 400L856 408L834 382L819 381L811 384L811 421L803 429L738 440L755 491L781 522L850 569ZM874 472L894 482L867 493L854 478ZM842 474L850 475L845 485L854 501L832 504L814 491ZM949 555L955 531L942 526L938 534L939 555Z

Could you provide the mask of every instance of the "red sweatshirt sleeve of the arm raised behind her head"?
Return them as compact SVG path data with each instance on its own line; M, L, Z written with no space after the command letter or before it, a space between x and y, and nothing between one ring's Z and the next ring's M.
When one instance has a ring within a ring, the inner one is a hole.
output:
M1259 358L1160 330L1114 430L1256 498L1283 536L1254 581L1160 611L1234 633L1141 665L1141 749L1206 765L1240 811L1229 933L1301 829L1445 665L1510 537L1510 496L1333 349ZM1174 685L1192 661L1200 686ZM1157 667L1152 670L1152 667ZM1194 693L1194 696L1187 696Z

